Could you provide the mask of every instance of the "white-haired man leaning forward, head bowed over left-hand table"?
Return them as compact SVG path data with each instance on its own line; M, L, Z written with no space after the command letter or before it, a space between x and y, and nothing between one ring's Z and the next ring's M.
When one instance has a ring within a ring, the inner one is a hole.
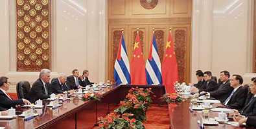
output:
M54 94L63 94L69 92L71 89L67 86L67 76L65 74L59 74L58 77L52 79L50 84L50 91Z

